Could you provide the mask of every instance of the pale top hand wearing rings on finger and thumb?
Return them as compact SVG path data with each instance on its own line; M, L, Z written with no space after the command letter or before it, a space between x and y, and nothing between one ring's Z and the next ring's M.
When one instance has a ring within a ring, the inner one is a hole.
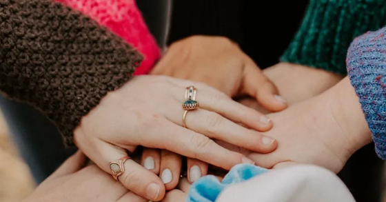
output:
M184 128L184 94L189 86L197 90L199 107L185 114ZM256 130L270 128L272 122L263 114L203 83L139 76L103 97L81 119L74 130L74 141L102 170L116 175L125 188L151 201L160 201L165 196L165 185L154 174L156 168L148 170L124 158L137 146L165 149L229 170L238 163L254 162L212 139L268 153L276 149L277 142ZM167 154L162 156L167 159Z

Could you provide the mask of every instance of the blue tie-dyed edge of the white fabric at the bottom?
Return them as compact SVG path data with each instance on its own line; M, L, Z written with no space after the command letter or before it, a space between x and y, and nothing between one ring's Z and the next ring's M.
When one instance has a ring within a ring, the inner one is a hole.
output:
M222 182L212 175L203 176L192 184L185 202L214 202L228 185L247 181L267 171L256 165L238 164L225 175Z

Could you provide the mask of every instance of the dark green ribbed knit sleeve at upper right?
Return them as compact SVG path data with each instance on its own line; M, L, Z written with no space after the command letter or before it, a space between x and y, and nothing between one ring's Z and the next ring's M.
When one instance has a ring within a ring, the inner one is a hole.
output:
M386 0L310 0L281 61L346 74L351 41L386 23Z

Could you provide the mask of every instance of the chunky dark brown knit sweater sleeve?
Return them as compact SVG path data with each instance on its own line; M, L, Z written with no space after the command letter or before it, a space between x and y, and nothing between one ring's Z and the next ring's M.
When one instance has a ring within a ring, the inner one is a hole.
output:
M52 120L67 145L81 117L128 81L142 56L50 0L0 0L0 90Z

